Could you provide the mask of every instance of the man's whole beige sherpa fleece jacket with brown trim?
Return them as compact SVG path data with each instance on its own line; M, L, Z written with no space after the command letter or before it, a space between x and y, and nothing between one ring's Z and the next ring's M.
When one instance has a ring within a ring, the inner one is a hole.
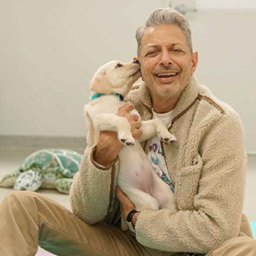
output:
M143 120L151 119L151 97L144 82L127 100ZM247 158L237 113L192 76L175 106L169 131L177 141L162 149L179 211L140 212L137 241L158 250L207 253L232 237L252 237L242 214ZM119 216L114 193L119 163L99 169L91 160L95 145L90 137L87 143L70 190L71 207L88 224L113 224ZM148 144L143 144L146 151Z

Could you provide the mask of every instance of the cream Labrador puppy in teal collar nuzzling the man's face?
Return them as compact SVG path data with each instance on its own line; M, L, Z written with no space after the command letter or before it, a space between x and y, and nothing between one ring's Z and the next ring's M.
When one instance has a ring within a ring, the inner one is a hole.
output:
M97 144L100 131L116 131L119 141L125 145L118 153L120 169L117 184L137 211L168 208L176 212L172 189L157 175L140 145L140 142L156 134L165 143L174 142L175 136L169 133L162 120L152 119L142 121L143 133L134 140L128 120L116 115L119 108L125 105L122 97L128 94L139 77L138 61L110 61L97 70L90 85L93 100L85 105L88 131L94 144ZM139 115L135 109L131 113ZM122 218L122 230L127 227Z

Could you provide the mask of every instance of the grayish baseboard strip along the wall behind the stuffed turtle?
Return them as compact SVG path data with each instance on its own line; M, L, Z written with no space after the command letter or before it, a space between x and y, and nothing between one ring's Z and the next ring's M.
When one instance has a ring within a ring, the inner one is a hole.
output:
M86 148L85 137L47 137L0 135L0 149L42 149L63 148L83 152Z

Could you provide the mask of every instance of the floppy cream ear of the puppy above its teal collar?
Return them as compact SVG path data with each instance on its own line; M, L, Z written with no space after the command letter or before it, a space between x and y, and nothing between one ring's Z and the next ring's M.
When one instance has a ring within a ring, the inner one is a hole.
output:
M96 91L97 93L110 94L112 93L112 86L105 75L103 70L97 72L91 81L90 89Z

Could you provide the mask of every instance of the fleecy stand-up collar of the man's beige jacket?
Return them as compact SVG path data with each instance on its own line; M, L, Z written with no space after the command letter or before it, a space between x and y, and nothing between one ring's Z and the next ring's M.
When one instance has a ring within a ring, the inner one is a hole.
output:
M183 113L186 112L186 110L189 109L190 106L193 105L193 103L198 97L198 93L199 93L198 80L196 79L195 75L193 75L189 80L189 84L185 87L183 93L180 95L180 98L178 99L178 102L174 108L173 119L172 119L173 121L176 121L180 116L183 115ZM143 104L151 110L152 108L151 95L145 82L142 82L140 84L139 95Z

